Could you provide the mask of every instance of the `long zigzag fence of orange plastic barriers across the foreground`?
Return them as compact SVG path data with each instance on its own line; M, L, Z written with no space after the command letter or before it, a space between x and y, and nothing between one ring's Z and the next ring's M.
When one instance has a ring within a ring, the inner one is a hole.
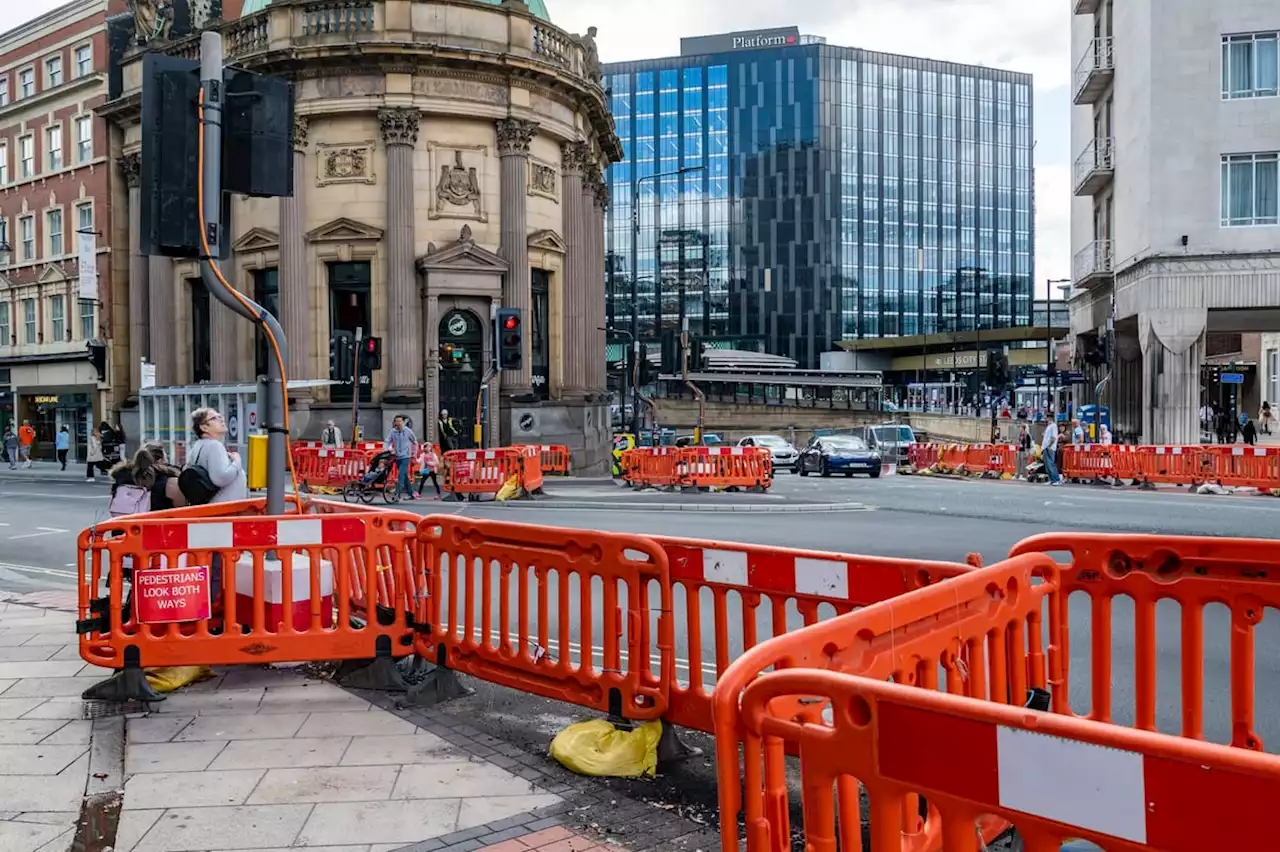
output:
M1221 830L1231 848L1271 848L1280 757L1262 753L1253 641L1280 606L1280 542L1061 533L982 567L324 500L262 508L81 535L81 654L120 670L92 697L155 700L146 667L300 660L403 691L396 661L416 655L435 664L417 700L457 695L465 673L713 734L726 852L791 848L794 814L827 852L978 852L1010 826L1030 852L1069 838L1202 852L1224 848ZM1073 596L1089 633L1071 636ZM1134 608L1132 663L1112 658L1117 599ZM1171 704L1156 690L1164 600L1181 613ZM1211 743L1204 613L1221 604L1230 739ZM1071 640L1087 710L1069 695ZM1134 696L1132 725L1115 722L1117 692Z

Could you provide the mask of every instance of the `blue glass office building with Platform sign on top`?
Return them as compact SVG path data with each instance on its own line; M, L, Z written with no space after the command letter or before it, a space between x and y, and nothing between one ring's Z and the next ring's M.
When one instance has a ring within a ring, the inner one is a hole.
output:
M605 65L609 324L817 367L838 340L1032 324L1032 79L797 31Z

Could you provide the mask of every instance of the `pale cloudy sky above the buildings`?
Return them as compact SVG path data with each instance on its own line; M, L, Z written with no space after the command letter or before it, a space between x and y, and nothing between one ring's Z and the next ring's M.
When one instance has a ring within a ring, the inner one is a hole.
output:
M1034 74L1037 292L1070 276L1070 0L545 1L557 26L599 28L603 61L672 56L681 36L796 26L833 45ZM0 32L60 3L0 0Z

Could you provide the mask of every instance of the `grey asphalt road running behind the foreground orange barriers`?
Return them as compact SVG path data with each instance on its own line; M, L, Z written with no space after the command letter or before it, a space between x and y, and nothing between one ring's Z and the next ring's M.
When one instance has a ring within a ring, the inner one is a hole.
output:
M886 477L881 480L820 480L815 477L780 476L771 498L756 500L762 505L805 505L806 503L858 503L868 510L822 512L817 508L786 514L707 513L652 510L635 498L611 485L549 486L553 495L536 507L413 504L421 512L462 513L467 517L494 518L540 526L563 526L600 531L664 535L719 541L741 541L759 545L790 546L840 553L900 556L909 559L963 560L968 553L979 553L987 563L1002 558L1011 545L1028 536L1055 530L1129 531L1189 533L1213 536L1280 537L1280 500L1244 496L1199 496L1187 493L1139 493L1068 486L1050 489L1012 482L951 481L922 477ZM664 503L699 504L728 495L659 495ZM556 500L572 499L595 503L599 510L557 509ZM631 504L640 510L628 510ZM72 588L76 574L76 532L106 517L106 489L83 482L38 481L32 477L9 478L0 475L0 591L35 591ZM497 583L494 583L497 588ZM579 638L576 587L572 590L572 640ZM497 595L497 592L495 592ZM727 627L731 649L741 649L742 615L731 596ZM515 591L512 591L515 603ZM686 603L676 597L677 615ZM1091 622L1088 603L1071 601L1071 665L1073 706L1088 709L1089 665L1088 643ZM497 613L498 608L494 608ZM1117 722L1133 719L1133 605L1119 599L1112 615L1114 713ZM712 614L703 606L703 659L716 659L709 646ZM788 613L792 626L796 613ZM593 633L599 636L599 606L595 608ZM765 605L756 613L759 635L769 635L769 613ZM515 623L515 622L513 622ZM552 624L554 624L552 619ZM678 623L678 619L677 619ZM1158 654L1158 727L1178 732L1181 718L1180 683L1180 611L1176 603L1165 601L1157 609ZM1206 611L1204 626L1204 727L1212 741L1230 737L1230 626L1225 606ZM687 629L677 637L677 656L689 659ZM554 643L553 643L554 645ZM1267 613L1257 628L1256 641L1256 706L1280 704L1280 614ZM554 650L554 649L553 649ZM575 650L570 651L576 655ZM576 656L575 656L576 659ZM689 678L687 665L678 677ZM704 677L709 682L709 675ZM531 713L536 700L511 693L511 706L502 709L490 695L495 718L509 716L512 724L536 718ZM556 709L558 707L558 709ZM548 704L541 715L564 716L563 705ZM548 725L550 728L552 725ZM1260 714L1257 727L1268 750L1280 751L1280 718Z

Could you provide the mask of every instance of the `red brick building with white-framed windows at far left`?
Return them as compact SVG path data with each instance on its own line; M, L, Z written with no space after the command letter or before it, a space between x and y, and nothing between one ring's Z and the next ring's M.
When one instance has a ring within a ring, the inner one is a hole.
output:
M183 20L239 0L196 0ZM0 425L29 420L44 455L56 431L86 435L128 404L128 175L110 157L106 20L125 0L72 0L0 33ZM119 203L115 203L119 202ZM77 233L97 244L97 298L82 299ZM88 358L105 342L105 380Z

